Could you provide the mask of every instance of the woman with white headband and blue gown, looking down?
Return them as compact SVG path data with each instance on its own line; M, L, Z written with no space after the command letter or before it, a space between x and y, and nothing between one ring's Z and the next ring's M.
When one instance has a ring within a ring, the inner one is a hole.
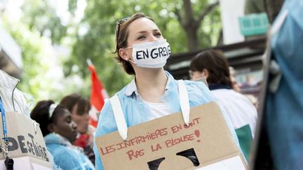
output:
M95 169L88 157L72 146L78 133L67 108L51 100L39 101L31 118L39 123L46 147L61 169Z

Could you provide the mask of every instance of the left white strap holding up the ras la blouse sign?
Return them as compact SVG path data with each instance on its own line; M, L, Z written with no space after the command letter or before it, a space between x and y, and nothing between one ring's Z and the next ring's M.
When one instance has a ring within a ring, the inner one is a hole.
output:
M109 99L112 104L112 110L114 112L114 118L116 120L116 126L118 128L118 132L123 139L123 141L127 140L128 127L126 125L126 120L123 115L122 107L119 101L119 97L115 94L112 98Z

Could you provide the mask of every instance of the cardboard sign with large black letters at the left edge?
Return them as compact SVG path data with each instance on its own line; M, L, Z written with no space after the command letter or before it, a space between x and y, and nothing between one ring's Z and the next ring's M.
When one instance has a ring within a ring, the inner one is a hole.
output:
M14 157L34 157L50 166L47 148L39 124L33 122L24 114L6 112L6 128L8 133L8 154ZM0 118L1 120L2 118ZM0 125L0 137L4 138L3 127ZM4 144L3 141L1 141ZM4 160L3 150L0 150L0 160Z

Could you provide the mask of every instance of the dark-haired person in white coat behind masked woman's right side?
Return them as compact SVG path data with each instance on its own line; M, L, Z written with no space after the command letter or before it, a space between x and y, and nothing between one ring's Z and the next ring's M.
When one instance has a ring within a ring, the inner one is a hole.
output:
M223 53L218 50L198 53L191 59L189 73L191 80L206 77L211 93L227 111L243 153L248 158L255 133L257 110L248 98L232 89L229 63Z

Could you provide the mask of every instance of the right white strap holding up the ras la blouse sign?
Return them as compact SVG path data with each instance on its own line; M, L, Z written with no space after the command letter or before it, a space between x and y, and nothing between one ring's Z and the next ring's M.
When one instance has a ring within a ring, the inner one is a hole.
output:
M188 126L189 125L189 98L187 94L187 89L185 87L183 80L178 80L178 90L179 90L179 97L180 97L180 106L183 115L184 123Z

